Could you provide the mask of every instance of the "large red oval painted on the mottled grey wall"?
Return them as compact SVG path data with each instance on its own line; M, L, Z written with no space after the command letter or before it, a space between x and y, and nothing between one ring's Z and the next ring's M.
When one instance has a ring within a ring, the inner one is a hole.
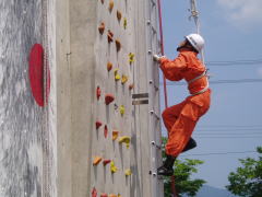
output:
M29 54L29 82L32 94L39 106L45 105L44 95L47 103L50 93L50 70L47 68L46 86L44 86L44 48L40 44L35 44Z

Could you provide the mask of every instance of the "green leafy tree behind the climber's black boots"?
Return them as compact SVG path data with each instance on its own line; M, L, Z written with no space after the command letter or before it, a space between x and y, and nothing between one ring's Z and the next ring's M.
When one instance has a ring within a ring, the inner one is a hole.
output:
M163 144L167 141L163 138ZM163 158L165 158L165 149L163 147ZM202 164L200 160L177 160L175 162L175 181L176 192L179 196L187 194L188 196L195 196L199 189L206 183L204 179L191 179L191 175L198 172L196 166ZM164 177L165 197L171 196L171 178Z

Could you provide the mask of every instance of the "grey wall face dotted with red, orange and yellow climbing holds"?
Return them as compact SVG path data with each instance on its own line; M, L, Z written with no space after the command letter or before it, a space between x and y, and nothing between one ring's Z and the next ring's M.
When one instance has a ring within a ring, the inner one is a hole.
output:
M156 65L152 61L152 53L157 53L157 37L150 32L152 23L157 36L157 21L156 16L150 21L150 12L151 4L146 1L98 0L91 166L91 193L94 197L109 194L160 196L162 184L158 181L154 186L156 176L152 175L155 173L152 157L157 160L160 154L158 150L158 154L152 155L155 136L150 130L156 128L154 131L159 137L159 119L150 121L150 116L159 116L159 109L154 107L158 106L158 94L150 101L154 102L151 103L152 109L155 109L153 113L150 113L147 104L133 105L134 94L138 99L144 93L148 94L150 85L157 85L153 79L158 81L157 69L154 69ZM157 164L155 162L154 167ZM156 186L158 189L152 188Z

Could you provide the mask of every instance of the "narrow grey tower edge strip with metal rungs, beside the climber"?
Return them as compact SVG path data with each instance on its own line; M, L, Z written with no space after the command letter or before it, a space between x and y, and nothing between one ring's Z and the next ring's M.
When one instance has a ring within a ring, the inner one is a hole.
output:
M163 181L157 177L157 167L162 164L162 134L159 109L159 69L153 61L153 55L159 54L158 4L156 0L146 0L146 63L148 81L148 135L151 137L151 193L152 197L163 197Z

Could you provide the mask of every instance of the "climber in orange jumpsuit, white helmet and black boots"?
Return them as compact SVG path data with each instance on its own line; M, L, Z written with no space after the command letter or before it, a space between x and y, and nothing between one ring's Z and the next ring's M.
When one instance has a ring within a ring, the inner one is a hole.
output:
M168 107L163 112L163 121L168 131L166 143L166 160L157 169L158 175L171 176L172 165L176 158L187 150L196 147L191 138L193 129L210 108L211 90L206 68L198 59L198 54L204 47L204 39L199 34L190 34L177 48L179 51L175 60L165 56L154 55L154 60L159 62L166 79L180 81L184 79L188 83L189 95L183 102Z

